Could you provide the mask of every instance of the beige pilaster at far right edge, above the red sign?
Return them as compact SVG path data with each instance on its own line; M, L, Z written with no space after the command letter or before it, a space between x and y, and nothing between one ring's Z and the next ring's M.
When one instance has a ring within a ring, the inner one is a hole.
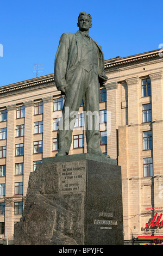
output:
M149 74L152 88L152 135L153 135L153 186L154 186L154 205L160 204L161 184L163 182L163 71Z

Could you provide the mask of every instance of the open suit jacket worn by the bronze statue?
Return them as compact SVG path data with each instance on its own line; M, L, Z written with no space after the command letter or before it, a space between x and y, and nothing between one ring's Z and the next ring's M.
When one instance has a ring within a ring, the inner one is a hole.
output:
M101 46L98 47L98 63L97 71L99 77L99 83L104 84L108 77L104 73L104 54ZM59 87L66 87L71 81L71 76L75 72L76 68L80 64L82 54L82 34L79 31L77 33L64 33L61 35L58 50L55 56L55 67L54 67L54 81Z

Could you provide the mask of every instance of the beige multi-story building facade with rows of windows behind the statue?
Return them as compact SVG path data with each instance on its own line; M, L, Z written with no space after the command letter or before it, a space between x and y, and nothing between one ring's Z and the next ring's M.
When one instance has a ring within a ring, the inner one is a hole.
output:
M163 58L159 50L105 60L99 123L104 154L122 167L124 241L163 235ZM0 243L11 243L30 172L57 153L64 97L54 74L0 87ZM70 154L86 153L81 104ZM114 199L113 199L114 200ZM156 220L155 220L156 221ZM135 238L134 238L135 237Z

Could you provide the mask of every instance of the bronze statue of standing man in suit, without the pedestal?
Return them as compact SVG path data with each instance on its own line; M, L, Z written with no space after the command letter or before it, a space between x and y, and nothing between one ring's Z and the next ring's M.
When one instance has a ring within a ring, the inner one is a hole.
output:
M99 86L103 85L108 77L104 73L104 55L101 46L89 36L92 27L90 14L79 14L77 33L64 33L61 35L57 54L55 56L54 80L57 89L65 94L65 103L62 111L64 129L58 130L58 154L68 155L72 142L72 130L65 129L65 120L68 123L74 119L71 113L78 112L84 103L84 112L97 112L99 114ZM69 115L65 114L68 107ZM66 115L66 116L65 116ZM75 122L75 121L74 121ZM87 153L102 155L100 148L101 135L98 129L86 122ZM93 119L93 124L95 120Z

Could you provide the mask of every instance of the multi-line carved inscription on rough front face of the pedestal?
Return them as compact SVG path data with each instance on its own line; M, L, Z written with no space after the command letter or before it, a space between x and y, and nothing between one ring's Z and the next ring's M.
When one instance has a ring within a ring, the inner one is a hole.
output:
M78 164L70 162L62 163L60 175L60 192L81 193L86 186L86 164L80 161Z

